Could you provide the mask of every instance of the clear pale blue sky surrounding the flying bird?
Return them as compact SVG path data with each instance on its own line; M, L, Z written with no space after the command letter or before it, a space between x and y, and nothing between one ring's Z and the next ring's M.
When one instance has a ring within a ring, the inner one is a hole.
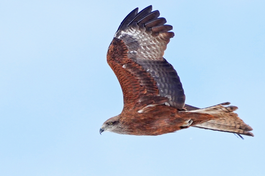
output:
M230 101L255 137L199 128L104 132L122 91L107 48L153 5L173 26L164 57L186 103ZM1 175L265 175L265 1L0 1Z

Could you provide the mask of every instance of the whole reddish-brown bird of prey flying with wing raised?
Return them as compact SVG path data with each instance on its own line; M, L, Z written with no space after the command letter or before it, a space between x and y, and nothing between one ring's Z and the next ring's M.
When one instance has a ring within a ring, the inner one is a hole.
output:
M254 136L229 102L203 109L185 104L180 78L163 58L173 27L159 15L152 6L139 13L134 9L110 43L107 63L120 82L124 106L121 114L103 123L100 134L156 136L192 126Z

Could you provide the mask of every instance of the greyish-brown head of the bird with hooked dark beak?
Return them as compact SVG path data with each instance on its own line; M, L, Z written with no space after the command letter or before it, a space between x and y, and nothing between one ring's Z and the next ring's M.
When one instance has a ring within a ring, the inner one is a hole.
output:
M101 128L100 128L100 134L103 131L110 131L114 133L120 133L121 129L121 123L120 123L120 115L114 116L108 120L106 120Z

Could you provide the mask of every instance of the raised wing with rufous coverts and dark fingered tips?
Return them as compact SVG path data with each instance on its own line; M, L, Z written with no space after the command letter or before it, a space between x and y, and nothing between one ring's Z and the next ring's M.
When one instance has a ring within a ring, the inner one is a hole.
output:
M183 109L185 94L177 72L163 58L172 26L159 11L148 6L129 13L120 24L109 46L107 62L117 76L124 109L165 104Z

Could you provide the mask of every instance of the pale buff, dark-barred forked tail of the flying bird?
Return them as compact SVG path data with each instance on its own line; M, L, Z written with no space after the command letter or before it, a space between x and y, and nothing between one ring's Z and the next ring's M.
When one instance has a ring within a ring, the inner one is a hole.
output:
M218 118L216 119L209 120L209 121L206 121L200 124L196 124L193 127L210 129L210 130L215 130L215 131L224 131L228 133L235 133L235 134L238 134L238 136L240 136L241 134L246 135L246 136L254 136L253 133L249 132L249 131L252 131L253 129L249 125L244 123L244 121L241 120L238 117L238 115L233 112L237 110L238 107L224 106L224 105L229 105L229 104L230 104L229 102L226 102L226 103L221 103L221 104L211 106L208 108L188 111L188 112L196 112L196 113L203 113L203 114L210 114L213 116L218 116ZM190 109L192 108L194 109L196 107L191 106Z

